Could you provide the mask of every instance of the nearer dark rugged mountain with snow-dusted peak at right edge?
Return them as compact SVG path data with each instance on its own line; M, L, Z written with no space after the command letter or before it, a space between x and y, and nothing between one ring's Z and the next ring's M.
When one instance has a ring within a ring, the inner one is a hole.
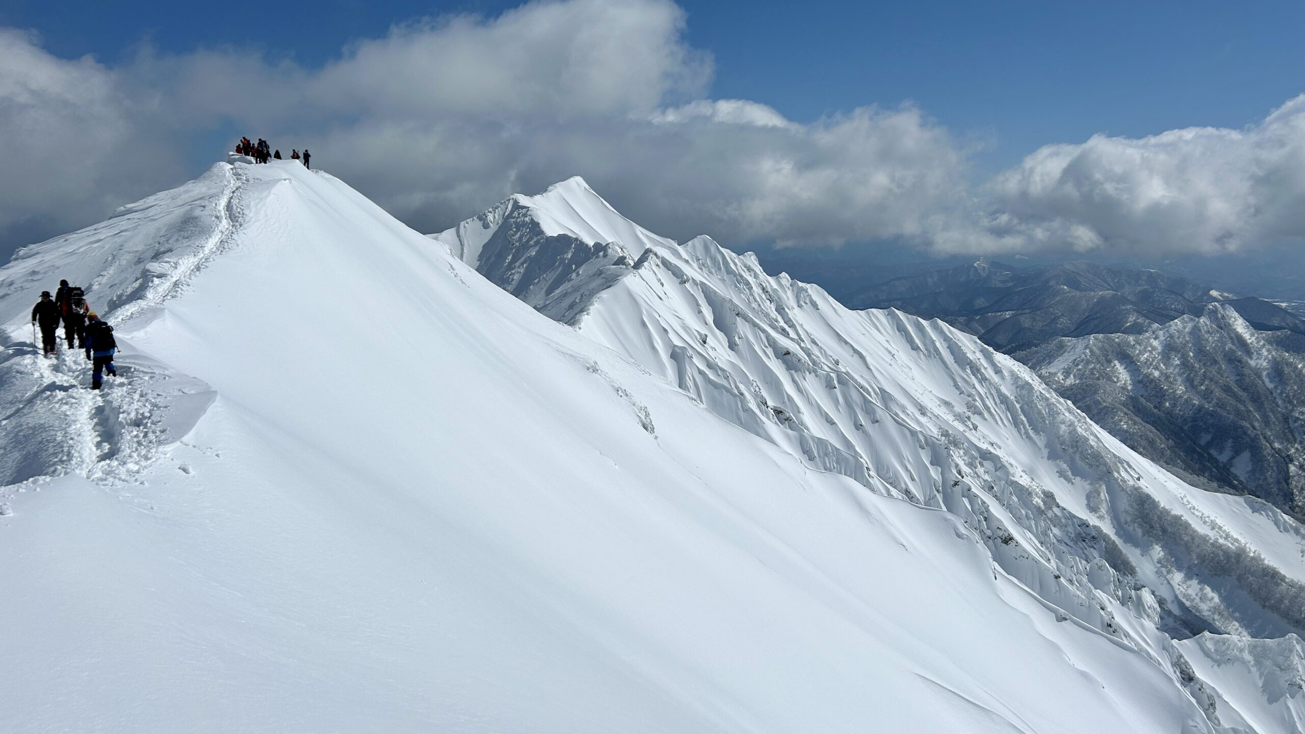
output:
M1305 517L1305 338L1214 304L1017 357L1130 447Z

